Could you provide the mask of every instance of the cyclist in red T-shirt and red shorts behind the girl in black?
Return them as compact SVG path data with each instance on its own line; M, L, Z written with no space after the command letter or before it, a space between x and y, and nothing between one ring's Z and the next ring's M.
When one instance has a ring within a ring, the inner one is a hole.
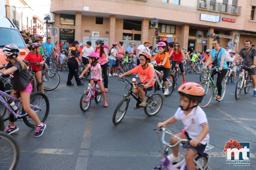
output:
M43 66L44 61L43 61L43 57L40 54L41 45L39 43L33 43L30 45L30 48L31 48L31 51L25 57L24 61L40 63L40 65ZM36 64L33 64L32 68L33 68L33 71L35 72L35 76L37 79L37 86L40 92L43 92L41 66L37 66ZM30 63L29 63L29 67L31 67Z

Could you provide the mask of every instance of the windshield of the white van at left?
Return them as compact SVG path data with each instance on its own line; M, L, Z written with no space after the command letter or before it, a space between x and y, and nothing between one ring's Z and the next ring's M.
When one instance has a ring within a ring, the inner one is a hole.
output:
M0 27L0 48L9 44L17 45L18 48L27 48L18 30Z

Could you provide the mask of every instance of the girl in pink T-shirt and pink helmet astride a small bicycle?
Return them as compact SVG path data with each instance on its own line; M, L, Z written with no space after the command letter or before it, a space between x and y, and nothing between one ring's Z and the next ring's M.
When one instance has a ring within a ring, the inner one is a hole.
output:
M100 90L102 92L102 96L103 96L103 99L104 99L103 106L104 107L108 107L108 102L107 102L107 99L106 99L105 89L104 89L104 86L102 84L102 69L101 69L100 64L98 63L99 55L96 54L96 53L91 53L87 57L89 57L89 64L83 70L82 74L78 78L82 78L83 75L85 73L87 73L87 71L89 69L91 69L91 74L92 74L91 78L98 80L97 83L98 83L99 88L100 88ZM93 86L93 84L94 84L94 81L91 80L91 86Z

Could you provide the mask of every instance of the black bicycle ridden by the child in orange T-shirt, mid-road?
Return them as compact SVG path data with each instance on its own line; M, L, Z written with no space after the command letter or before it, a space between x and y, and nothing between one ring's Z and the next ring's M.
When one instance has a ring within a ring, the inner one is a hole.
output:
M122 78L119 81L123 81L123 82L125 82L125 84L127 82L125 89L128 90L128 94L127 95L125 95L125 94L123 95L123 99L117 104L117 107L114 110L114 114L113 114L113 117L112 117L112 122L115 125L119 124L122 121L124 115L126 114L126 112L128 110L129 103L130 103L130 99L131 99L130 95L132 95L133 98L137 101L137 103L136 103L136 105L134 107L134 110L144 109L146 115L148 115L148 116L154 116L154 115L156 115L160 111L160 109L161 109L161 107L163 105L163 98L162 98L161 95L156 94L156 93L150 95L146 91L145 92L145 97L147 98L147 100L146 100L147 104L146 104L146 106L144 108L141 108L139 106L139 104L142 102L142 98L141 98L140 95L136 95L132 91L132 89L133 89L133 85L136 85L136 86L139 86L139 87L142 87L142 88L143 88L143 86L141 86L140 84L130 83L130 81L128 81L126 78ZM130 90L127 87L129 85L131 86Z

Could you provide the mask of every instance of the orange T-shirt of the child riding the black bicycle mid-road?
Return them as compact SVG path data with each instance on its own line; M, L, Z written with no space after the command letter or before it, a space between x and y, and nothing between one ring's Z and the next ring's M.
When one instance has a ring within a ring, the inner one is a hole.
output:
M133 74L139 73L139 80L141 83L148 82L148 81L150 81L151 78L154 78L154 69L149 65L146 69L143 69L142 65L139 65L139 66L135 67L134 69L132 69L131 72ZM151 84L149 84L149 87L151 87L151 86L154 86L154 79L151 82Z

